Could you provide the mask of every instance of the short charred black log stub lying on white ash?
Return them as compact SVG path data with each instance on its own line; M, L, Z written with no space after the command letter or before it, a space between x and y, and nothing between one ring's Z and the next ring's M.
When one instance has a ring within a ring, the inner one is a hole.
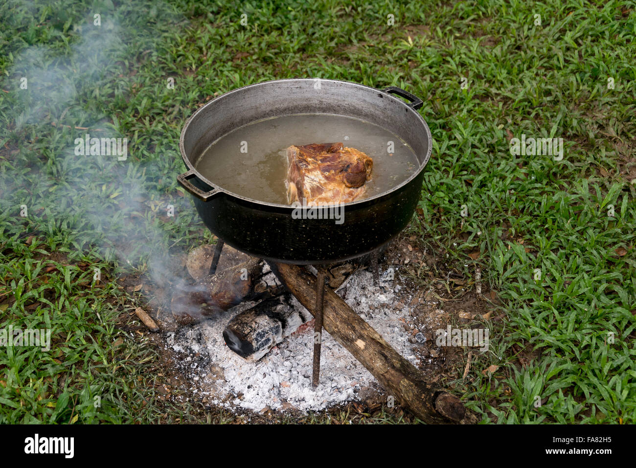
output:
M223 339L240 357L257 361L310 318L296 311L289 297L265 299L230 320Z

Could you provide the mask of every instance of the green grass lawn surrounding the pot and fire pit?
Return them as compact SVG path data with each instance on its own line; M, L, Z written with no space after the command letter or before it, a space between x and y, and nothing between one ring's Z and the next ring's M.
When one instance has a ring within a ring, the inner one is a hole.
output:
M434 146L413 229L466 276L481 266L506 314L455 382L469 408L636 422L635 3L8 1L0 18L0 322L54 343L0 349L0 422L188 420L153 394L153 351L121 329L133 300L116 278L209 240L176 183L196 105L291 77L424 99ZM86 132L128 138L128 159L74 155ZM511 155L523 133L563 138L563 160ZM522 369L516 350L536 358Z

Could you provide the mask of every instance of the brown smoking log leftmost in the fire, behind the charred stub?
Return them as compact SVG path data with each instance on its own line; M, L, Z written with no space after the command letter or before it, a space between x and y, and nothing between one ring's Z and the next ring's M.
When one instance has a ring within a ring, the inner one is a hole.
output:
M191 325L244 301L261 273L261 260L249 259L192 285L181 285L172 296L172 315L181 325Z

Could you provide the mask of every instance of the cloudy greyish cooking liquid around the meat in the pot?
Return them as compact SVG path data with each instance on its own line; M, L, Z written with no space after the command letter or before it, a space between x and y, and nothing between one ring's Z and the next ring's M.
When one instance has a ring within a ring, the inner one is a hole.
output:
M287 204L287 146L338 141L373 159L371 180L359 199L396 187L419 167L410 146L379 125L342 115L296 114L257 120L233 130L208 146L195 168L233 194Z

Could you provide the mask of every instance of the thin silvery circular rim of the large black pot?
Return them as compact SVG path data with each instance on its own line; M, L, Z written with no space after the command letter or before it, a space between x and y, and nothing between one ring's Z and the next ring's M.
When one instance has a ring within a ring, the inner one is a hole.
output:
M183 162L188 167L188 169L189 169L188 173L195 174L198 179L202 180L205 184L209 185L209 187L212 187L213 190L211 190L210 193L212 193L213 195L226 194L226 195L229 195L230 197L235 197L237 199L241 199L241 200L244 200L244 201L247 201L247 202L259 204L261 206L270 206L270 207L275 207L275 208L294 209L294 206L291 206L289 204L271 203L271 202L265 202L265 201L252 199L252 198L249 198L249 197L244 197L242 195L230 192L230 191L226 190L223 187L219 187L215 183L212 183L207 178L202 176L197 171L197 169L195 169L194 165L191 164L190 159L188 159L188 157L186 156L186 150L184 148L184 139L185 139L185 136L186 136L186 132L188 131L188 127L190 126L191 122L193 122L193 120L195 120L195 118L197 118L199 113L202 113L202 111L204 111L205 108L207 108L208 106L211 106L212 104L218 104L218 101L220 99L225 99L226 97L228 97L228 96L230 96L232 94L240 93L240 92L242 92L242 90L247 89L247 88L270 85L271 83L309 82L309 81L315 82L315 80L317 80L317 79L321 80L321 82L345 83L346 85L353 86L353 87L358 87L358 88L361 88L361 89L371 90L371 91L373 91L375 93L382 92L385 95L385 97L389 97L389 99L393 99L397 103L399 103L402 106L404 106L404 108L406 108L407 111L410 111L410 112L414 113L417 116L417 118L420 120L420 123L424 127L424 130L425 130L425 132L427 134L427 137L428 137L429 145L428 145L427 152L426 152L426 155L424 157L424 160L422 161L422 164L420 164L420 167L418 167L417 171L414 171L413 174L411 174L411 176L409 178L407 178L406 180L402 181L401 183L399 183L395 187L390 188L389 190L385 190L384 192L381 192L380 194L373 195L373 197L368 197L368 198L363 198L363 199L352 201L352 202L347 202L347 203L344 203L343 206L345 206L345 207L347 207L347 206L355 206L357 204L363 204L363 203L367 203L367 202L370 202L370 201L373 201L373 200L380 199L380 198L384 197L385 195L387 195L387 194L389 194L391 192L394 192L396 190L399 190L401 187L404 187L404 185L407 185L408 183L410 183L411 180L415 179L418 176L418 174L424 170L424 167L429 162L429 159L431 159L431 150L432 150L431 130L429 129L429 126L426 124L424 118L422 118L420 113L418 113L418 111L415 110L413 107L409 106L407 103L405 103L401 99L398 99L397 97L393 96L392 94L384 92L381 89L373 88L373 87L366 86L366 85L361 85L359 83L345 82L343 80L328 80L328 79L323 79L323 78L286 78L284 80L268 80L268 81L265 81L265 82L254 83L252 85L242 86L240 88L233 89L231 91L226 92L225 94L222 94L221 96L216 97L215 99L212 99L212 101L210 101L209 103L206 103L206 104L204 104L204 106L201 106L200 108L198 108L190 116L190 118L188 118L188 120L186 120L186 123L183 125L183 129L181 129L181 137L179 138L179 150L181 152L181 159L183 159ZM347 117L347 116L345 116L345 117ZM329 205L329 206L331 206L331 205Z

